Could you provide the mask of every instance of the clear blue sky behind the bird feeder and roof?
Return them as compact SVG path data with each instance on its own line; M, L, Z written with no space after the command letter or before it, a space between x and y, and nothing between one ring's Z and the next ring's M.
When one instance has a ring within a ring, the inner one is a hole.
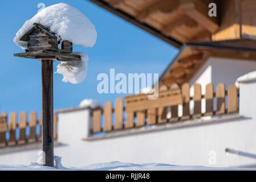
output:
M62 82L54 74L54 109L78 106L84 98L100 102L112 101L125 94L97 93L97 75L115 68L116 73L162 73L177 54L177 49L131 23L86 0L77 1L1 1L0 112L41 111L41 65L38 60L14 57L23 52L13 38L23 23L38 11L38 3L46 6L64 2L76 7L95 25L97 42L92 48L74 46L74 51L89 56L86 80L81 84ZM54 72L56 65L54 63Z

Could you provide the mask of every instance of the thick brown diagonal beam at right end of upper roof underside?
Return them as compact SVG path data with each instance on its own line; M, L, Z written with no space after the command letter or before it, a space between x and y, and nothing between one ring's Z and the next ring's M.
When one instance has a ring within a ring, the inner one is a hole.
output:
M198 24L214 33L218 30L218 18L208 15L209 7L200 0L180 0L180 9Z

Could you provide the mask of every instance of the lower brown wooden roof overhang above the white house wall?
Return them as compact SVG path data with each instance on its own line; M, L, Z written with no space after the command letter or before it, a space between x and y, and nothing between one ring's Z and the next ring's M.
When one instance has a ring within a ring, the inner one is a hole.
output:
M256 39L242 38L223 41L193 42L182 45L176 58L165 69L159 86L169 87L189 82L209 57L256 60Z

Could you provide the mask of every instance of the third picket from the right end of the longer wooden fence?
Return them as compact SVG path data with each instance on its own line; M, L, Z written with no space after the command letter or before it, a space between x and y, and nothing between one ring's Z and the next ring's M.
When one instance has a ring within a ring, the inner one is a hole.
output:
M205 114L213 115L213 84L207 84L205 88Z

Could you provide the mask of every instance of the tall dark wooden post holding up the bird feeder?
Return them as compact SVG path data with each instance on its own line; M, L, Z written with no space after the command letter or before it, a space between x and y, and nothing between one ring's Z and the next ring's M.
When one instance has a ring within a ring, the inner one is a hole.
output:
M53 138L53 69L52 60L42 62L42 146L44 166L54 167L54 138Z

